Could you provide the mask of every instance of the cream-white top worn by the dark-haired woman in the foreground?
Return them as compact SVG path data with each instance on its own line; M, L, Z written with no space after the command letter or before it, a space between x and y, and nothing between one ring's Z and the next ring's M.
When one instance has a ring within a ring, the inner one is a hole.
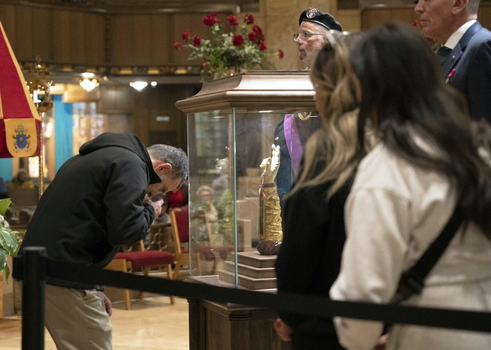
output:
M330 297L389 302L401 273L436 239L455 204L447 177L415 167L379 144L361 161L346 202L347 241ZM463 227L428 275L423 293L405 304L491 310L491 242L476 225L465 232ZM373 349L382 332L379 322L335 318L334 323L348 350ZM490 334L469 334L397 325L386 349L491 349Z

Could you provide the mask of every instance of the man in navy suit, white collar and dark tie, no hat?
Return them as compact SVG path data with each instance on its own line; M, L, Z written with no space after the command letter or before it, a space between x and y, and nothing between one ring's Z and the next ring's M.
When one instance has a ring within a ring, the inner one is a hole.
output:
M479 0L419 0L423 34L439 41L438 59L473 119L491 124L491 32L477 21Z

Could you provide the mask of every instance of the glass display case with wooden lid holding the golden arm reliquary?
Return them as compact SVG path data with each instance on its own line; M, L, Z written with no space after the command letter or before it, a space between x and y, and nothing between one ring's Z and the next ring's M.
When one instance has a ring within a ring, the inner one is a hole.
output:
M281 210L321 125L313 95L308 72L248 72L176 103L188 116L191 279L274 291Z

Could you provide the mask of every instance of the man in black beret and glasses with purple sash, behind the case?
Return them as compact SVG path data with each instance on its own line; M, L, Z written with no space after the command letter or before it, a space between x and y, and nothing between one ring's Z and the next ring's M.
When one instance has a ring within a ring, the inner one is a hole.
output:
M309 7L300 14L300 33L293 37L298 45L299 59L307 64L307 69L313 64L318 50L322 48L324 37L329 30L341 31L341 25L329 13ZM303 155L308 138L319 127L321 120L318 113L286 114L274 130L274 144L280 147L280 162L276 186L283 211L286 194L291 190L297 176L300 159Z

